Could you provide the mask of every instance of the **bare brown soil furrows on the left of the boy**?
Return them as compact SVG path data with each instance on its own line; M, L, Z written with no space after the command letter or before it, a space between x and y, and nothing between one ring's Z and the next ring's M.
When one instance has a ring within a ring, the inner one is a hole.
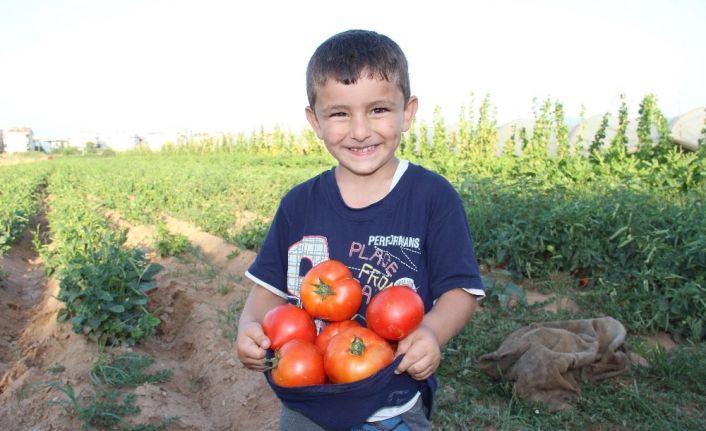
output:
M151 226L129 226L128 245L154 239ZM163 384L132 389L141 412L129 422L158 423L178 417L169 430L274 430L280 402L261 373L245 369L232 337L224 336L229 304L242 300L250 282L243 277L254 259L221 238L179 220L165 218L170 230L186 235L201 252L179 258L148 258L164 269L150 293L150 309L161 319L157 334L130 350L155 359L149 371L170 369ZM235 257L234 257L235 256ZM44 268L28 234L3 258L0 279L0 430L83 429L80 420L52 401L67 396L47 382L70 384L77 394L93 391L89 371L100 353L96 343L58 323L58 283ZM235 323L228 323L235 329ZM82 397L79 397L82 399Z

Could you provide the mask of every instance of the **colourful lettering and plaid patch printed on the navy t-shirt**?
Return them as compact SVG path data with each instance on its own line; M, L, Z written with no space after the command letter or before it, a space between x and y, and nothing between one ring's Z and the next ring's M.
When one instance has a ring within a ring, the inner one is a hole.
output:
M346 264L360 281L365 303L377 292L392 286L406 285L414 290L417 261L421 254L420 239L402 235L371 235L366 242L351 242ZM315 266L330 257L328 240L324 236L305 236L289 248L287 290L299 298L303 259Z

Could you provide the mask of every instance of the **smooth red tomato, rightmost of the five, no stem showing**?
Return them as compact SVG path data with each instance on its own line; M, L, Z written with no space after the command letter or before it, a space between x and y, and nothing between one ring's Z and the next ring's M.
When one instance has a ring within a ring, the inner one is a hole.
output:
M407 286L383 289L368 304L365 320L368 328L388 340L401 340L424 318L422 298Z

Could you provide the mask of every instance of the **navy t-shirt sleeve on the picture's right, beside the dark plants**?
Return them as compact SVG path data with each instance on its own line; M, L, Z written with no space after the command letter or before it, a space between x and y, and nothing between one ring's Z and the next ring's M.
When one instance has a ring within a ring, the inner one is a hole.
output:
M484 296L468 218L450 184L437 194L431 211L427 258L434 299L454 288Z

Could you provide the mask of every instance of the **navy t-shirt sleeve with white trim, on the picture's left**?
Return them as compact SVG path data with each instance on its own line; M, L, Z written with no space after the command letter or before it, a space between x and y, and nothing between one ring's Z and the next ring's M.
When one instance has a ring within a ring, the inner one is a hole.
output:
M262 248L245 273L258 285L285 299L288 297L287 238L289 237L289 226L283 200L275 213Z

